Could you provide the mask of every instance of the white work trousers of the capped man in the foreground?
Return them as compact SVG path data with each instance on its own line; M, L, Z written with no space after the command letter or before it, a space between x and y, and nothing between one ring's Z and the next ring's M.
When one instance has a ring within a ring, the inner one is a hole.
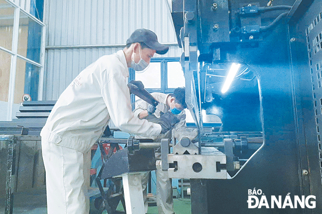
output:
M90 150L74 149L41 140L46 171L48 214L89 214Z

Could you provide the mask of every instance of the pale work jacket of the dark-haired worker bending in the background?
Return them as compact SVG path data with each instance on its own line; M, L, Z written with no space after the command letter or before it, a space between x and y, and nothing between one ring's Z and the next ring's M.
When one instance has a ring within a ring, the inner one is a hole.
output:
M153 113L154 116L156 116L157 118L160 117L160 114L161 112L163 113L166 113L169 109L166 105L166 99L169 97L169 94L163 94L163 93L159 93L159 92L153 92L151 93L151 95L156 99L158 100L160 103L156 106L156 111ZM133 111L134 112L134 115L136 117L139 117L139 114L144 111L144 110L147 110L147 106L148 106L148 103L145 102L144 100L142 99L138 99L136 102L135 102L135 110ZM182 115L184 115L182 117ZM179 129L181 127L185 127L186 126L186 123L185 123L185 111L183 109L183 111L177 115L177 117L180 119L180 122L178 122L175 126L175 129Z

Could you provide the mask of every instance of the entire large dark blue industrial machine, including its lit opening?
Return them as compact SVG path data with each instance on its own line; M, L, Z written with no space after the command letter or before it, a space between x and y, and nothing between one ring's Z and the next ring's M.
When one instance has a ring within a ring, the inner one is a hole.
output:
M321 214L321 1L168 3L199 142L168 172L192 166L192 214Z

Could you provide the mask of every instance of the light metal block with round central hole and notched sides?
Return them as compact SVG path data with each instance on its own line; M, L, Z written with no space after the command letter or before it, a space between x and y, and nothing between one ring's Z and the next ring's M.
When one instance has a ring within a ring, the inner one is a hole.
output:
M171 178L227 179L226 156L168 155L168 175Z

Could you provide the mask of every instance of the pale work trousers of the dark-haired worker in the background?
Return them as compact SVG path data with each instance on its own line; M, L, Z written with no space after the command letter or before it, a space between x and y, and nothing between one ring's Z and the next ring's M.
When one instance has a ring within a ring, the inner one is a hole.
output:
M157 155L156 155L157 156ZM157 206L159 214L174 214L173 211L173 196L172 196L172 179L169 178L167 171L162 171L161 160L156 161L157 170ZM147 213L147 198L146 188L149 178L149 173L142 175L142 190L144 199L145 213Z

